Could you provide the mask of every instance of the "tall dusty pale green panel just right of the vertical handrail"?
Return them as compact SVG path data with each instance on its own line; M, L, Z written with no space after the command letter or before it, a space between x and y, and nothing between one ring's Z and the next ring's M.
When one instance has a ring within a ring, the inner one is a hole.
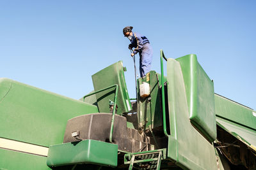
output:
M214 146L189 121L186 90L179 62L167 60L170 118L168 157L184 169L217 169Z

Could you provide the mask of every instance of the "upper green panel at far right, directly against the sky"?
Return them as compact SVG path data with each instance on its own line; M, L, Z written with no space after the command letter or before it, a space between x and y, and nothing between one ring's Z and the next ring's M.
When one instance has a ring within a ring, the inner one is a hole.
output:
M216 116L250 127L256 131L256 111L215 94Z

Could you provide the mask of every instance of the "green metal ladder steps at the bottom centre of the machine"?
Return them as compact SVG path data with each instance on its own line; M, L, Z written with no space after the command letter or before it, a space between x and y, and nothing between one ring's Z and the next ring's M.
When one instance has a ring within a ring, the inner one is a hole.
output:
M130 164L129 170L136 169L160 169L163 150L151 150L139 153L127 153L124 155L124 164Z

